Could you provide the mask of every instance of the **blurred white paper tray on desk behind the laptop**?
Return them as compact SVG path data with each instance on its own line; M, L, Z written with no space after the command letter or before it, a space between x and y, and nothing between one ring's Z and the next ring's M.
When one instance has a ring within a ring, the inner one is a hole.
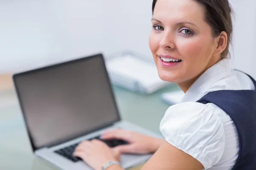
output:
M108 58L106 67L114 85L140 94L151 94L171 84L159 78L157 68L149 57L123 52Z

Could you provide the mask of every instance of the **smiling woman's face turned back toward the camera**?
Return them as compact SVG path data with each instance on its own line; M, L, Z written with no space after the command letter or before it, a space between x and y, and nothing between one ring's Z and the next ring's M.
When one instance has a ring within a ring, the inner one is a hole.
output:
M189 82L216 62L217 43L195 1L158 0L152 26L149 46L161 79Z

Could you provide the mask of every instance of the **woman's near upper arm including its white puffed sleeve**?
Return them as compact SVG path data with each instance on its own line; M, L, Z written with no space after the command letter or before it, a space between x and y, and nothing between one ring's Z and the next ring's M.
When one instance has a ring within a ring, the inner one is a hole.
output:
M153 164L159 165L159 170L201 170L203 166L209 169L223 156L224 125L211 105L198 102L172 105L160 123L160 131L166 142L145 169L150 170Z

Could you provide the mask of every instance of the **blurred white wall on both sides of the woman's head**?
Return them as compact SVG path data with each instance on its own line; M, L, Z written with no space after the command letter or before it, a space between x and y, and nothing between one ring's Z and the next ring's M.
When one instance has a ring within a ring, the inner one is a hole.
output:
M256 77L256 1L235 11L234 66ZM151 57L151 0L1 0L0 73L131 49Z

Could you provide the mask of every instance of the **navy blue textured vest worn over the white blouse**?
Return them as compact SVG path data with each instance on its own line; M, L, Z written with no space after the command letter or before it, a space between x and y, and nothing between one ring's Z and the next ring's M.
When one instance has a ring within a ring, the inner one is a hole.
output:
M250 79L256 87L256 81ZM232 170L256 170L256 90L213 91L197 102L217 105L235 123L240 147Z

